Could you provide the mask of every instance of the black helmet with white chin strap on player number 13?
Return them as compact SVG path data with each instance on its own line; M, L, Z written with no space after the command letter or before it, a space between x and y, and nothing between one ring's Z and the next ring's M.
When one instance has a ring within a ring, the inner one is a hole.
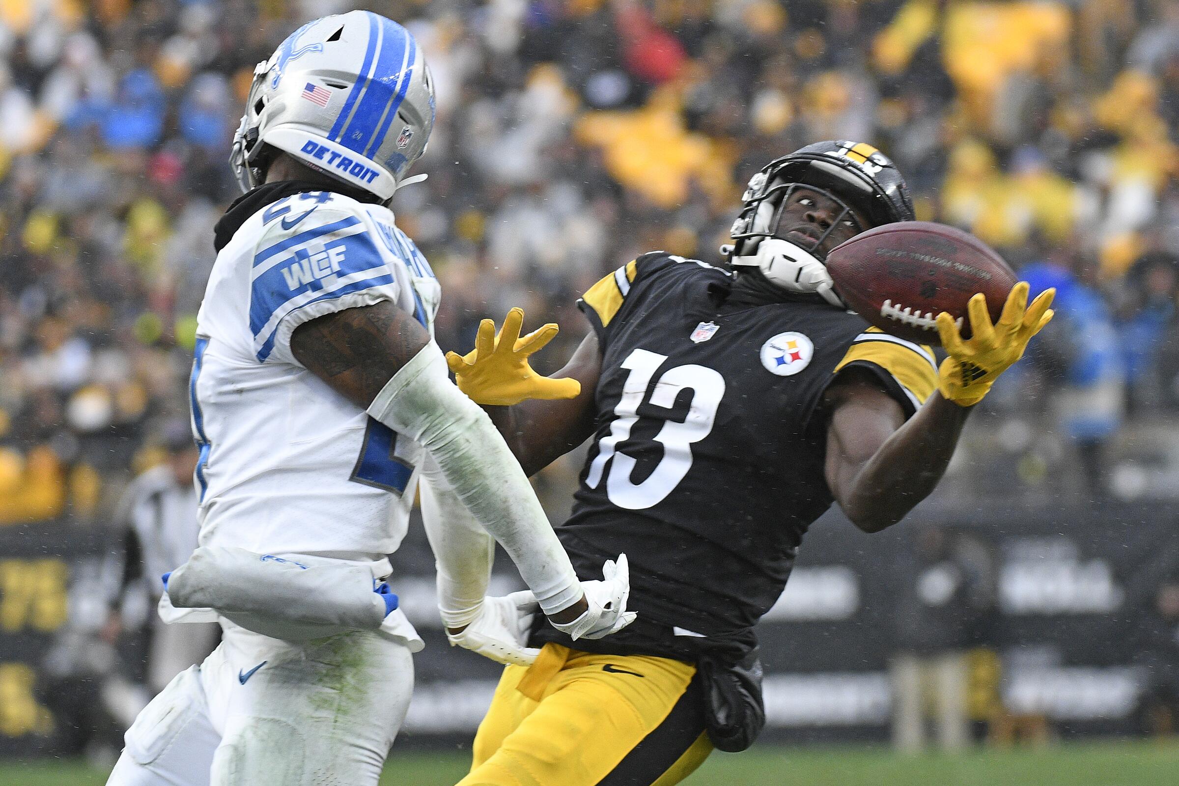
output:
M839 206L831 227L806 246L775 237L791 192L816 191ZM859 232L914 219L913 200L904 178L884 153L856 141L819 141L770 161L755 174L740 213L733 222L732 245L720 249L737 266L758 267L772 283L793 292L816 292L831 305L845 308L823 264L819 246L841 220L851 220ZM864 225L858 217L868 222Z

